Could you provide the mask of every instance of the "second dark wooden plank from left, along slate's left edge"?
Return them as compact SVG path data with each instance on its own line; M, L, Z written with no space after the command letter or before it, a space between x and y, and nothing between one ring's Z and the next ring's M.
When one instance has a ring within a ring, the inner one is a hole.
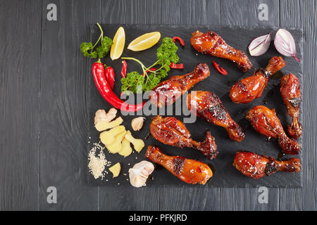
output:
M57 21L46 20L56 4ZM98 210L98 190L87 186L87 92L92 62L79 46L100 18L99 1L43 2L40 101L41 210ZM55 186L57 203L46 202Z

